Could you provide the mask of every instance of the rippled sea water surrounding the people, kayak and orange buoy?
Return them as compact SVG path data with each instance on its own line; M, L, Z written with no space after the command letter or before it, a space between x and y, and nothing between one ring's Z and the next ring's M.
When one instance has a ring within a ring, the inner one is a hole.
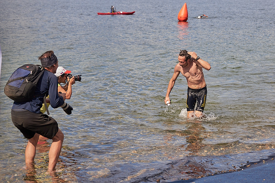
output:
M0 182L156 182L238 169L275 153L274 1L0 2ZM111 5L133 15L99 16ZM208 19L196 19L206 14ZM180 49L211 64L204 120L187 119L187 83L178 77L164 105ZM11 73L53 50L82 74L62 109L57 172L47 172L50 140L25 170L27 139L13 126L3 92ZM234 166L232 166L234 165Z

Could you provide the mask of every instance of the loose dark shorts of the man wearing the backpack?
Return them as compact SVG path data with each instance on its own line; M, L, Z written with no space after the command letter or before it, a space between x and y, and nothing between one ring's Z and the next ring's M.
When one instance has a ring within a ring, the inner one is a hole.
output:
M11 118L24 137L33 138L35 133L52 139L57 131L56 120L46 114L32 113L26 109L12 109Z

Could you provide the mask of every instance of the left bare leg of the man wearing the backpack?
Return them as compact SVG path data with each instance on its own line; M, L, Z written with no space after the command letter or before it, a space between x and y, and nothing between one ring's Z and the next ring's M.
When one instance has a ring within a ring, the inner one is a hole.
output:
M39 139L39 134L36 133L33 138L29 139L29 142L26 146L25 161L26 161L27 167L29 164L33 163L34 161L38 139Z

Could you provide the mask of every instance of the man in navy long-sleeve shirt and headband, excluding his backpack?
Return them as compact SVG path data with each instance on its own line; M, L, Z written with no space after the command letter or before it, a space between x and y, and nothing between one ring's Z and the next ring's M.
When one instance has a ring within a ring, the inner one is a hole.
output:
M53 140L49 151L48 170L54 170L61 152L64 135L58 128L56 120L42 114L40 108L46 93L49 93L50 104L53 108L64 107L67 105L64 102L66 94L60 94L57 91L57 77L54 74L58 67L58 60L53 51L45 52L38 59L44 68L43 75L35 89L35 96L38 97L28 102L14 102L11 117L13 124L29 140L25 151L27 167L30 167L34 161L39 135L42 135Z

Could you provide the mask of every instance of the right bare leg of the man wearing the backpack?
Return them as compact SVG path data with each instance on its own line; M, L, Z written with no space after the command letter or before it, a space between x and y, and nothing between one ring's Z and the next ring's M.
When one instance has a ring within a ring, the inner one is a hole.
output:
M57 134L53 137L52 140L53 142L49 151L49 168L48 168L49 170L55 169L55 166L57 164L57 161L61 152L61 148L64 140L64 134L60 129L58 129Z

